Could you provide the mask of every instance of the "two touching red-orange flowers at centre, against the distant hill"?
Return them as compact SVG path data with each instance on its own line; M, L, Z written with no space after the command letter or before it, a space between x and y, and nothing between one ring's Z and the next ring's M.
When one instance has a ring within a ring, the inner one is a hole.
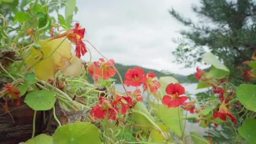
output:
M147 75L144 74L143 69L135 67L134 69L128 69L125 72L124 83L126 86L141 86L143 84L143 90L146 91L149 88L151 93L157 92L161 84L157 80L153 80L156 75L153 72L149 72Z

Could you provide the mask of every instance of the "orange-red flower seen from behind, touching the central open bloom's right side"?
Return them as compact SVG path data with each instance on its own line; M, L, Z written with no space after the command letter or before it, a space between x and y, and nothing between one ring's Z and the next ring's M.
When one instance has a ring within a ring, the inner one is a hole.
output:
M147 80L143 84L144 91L146 91L147 88L149 87L149 91L151 93L157 92L158 88L161 87L161 84L157 80L152 80L154 77L156 77L156 75L153 72L149 72L146 77L147 77Z

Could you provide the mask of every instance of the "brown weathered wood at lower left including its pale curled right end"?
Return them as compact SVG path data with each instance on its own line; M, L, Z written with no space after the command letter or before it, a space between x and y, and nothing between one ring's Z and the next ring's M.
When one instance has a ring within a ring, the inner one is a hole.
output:
M13 104L11 104L11 100L8 101L10 113L6 114L4 108L5 101L0 99L0 144L18 144L31 138L34 110L24 103L24 97L21 97L21 106L18 109L15 100ZM85 121L89 112L88 109L74 112L62 108L58 100L56 100L55 108L56 117L61 122L61 125L74 123L75 121ZM58 126L53 117L53 109L37 111L35 136L40 133L53 135Z

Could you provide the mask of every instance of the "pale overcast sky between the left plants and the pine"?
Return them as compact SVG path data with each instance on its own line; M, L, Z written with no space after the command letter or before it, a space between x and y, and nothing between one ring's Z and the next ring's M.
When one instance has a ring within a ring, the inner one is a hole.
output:
M85 27L85 39L91 41L108 59L124 65L163 70L182 75L194 68L173 62L177 47L173 38L181 37L185 27L168 12L172 7L183 16L197 19L192 4L198 0L77 0L74 20ZM101 56L92 51L93 60ZM89 54L83 59L88 60Z

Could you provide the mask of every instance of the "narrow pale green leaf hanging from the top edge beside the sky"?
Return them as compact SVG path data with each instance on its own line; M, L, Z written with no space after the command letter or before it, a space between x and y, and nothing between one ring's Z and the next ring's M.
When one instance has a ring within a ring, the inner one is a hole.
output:
M66 24L71 24L73 19L73 13L75 11L76 0L66 0L66 7L65 7L65 19Z

